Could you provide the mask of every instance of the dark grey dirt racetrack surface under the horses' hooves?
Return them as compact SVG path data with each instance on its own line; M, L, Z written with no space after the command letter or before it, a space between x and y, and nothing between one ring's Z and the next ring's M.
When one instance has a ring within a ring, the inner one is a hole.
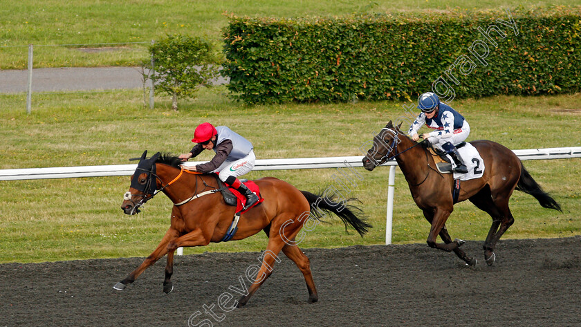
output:
M218 301L227 309L250 286L258 252L176 256L169 295L165 258L124 291L112 287L142 258L8 263L0 326L581 326L581 236L501 240L492 267L482 245L463 245L479 259L474 269L425 244L304 250L313 304L281 254L248 305L230 312Z

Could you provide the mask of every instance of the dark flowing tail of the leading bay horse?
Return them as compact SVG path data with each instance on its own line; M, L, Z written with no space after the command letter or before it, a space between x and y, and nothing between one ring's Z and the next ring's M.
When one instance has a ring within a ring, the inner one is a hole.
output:
M356 198L350 198L344 203L337 203L333 198L327 196L312 194L308 191L301 191L301 193L308 201L308 204L311 205L311 216L314 216L314 218L321 218L323 212L333 212L345 224L345 231L347 231L347 224L349 224L361 236L367 233L369 228L373 227L367 223L366 218L359 218L359 216L363 216L362 209L355 205L345 205L345 203L357 200Z

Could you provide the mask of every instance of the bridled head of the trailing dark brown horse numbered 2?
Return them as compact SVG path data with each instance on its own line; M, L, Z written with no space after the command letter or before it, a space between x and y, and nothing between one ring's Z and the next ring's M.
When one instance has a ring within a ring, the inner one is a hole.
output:
M365 169L372 171L376 166L384 164L389 157L393 158L396 156L400 126L401 124L394 127L390 120L387 125L385 125L385 127L374 136L374 145L369 149L369 151L367 151L367 154L362 160Z

